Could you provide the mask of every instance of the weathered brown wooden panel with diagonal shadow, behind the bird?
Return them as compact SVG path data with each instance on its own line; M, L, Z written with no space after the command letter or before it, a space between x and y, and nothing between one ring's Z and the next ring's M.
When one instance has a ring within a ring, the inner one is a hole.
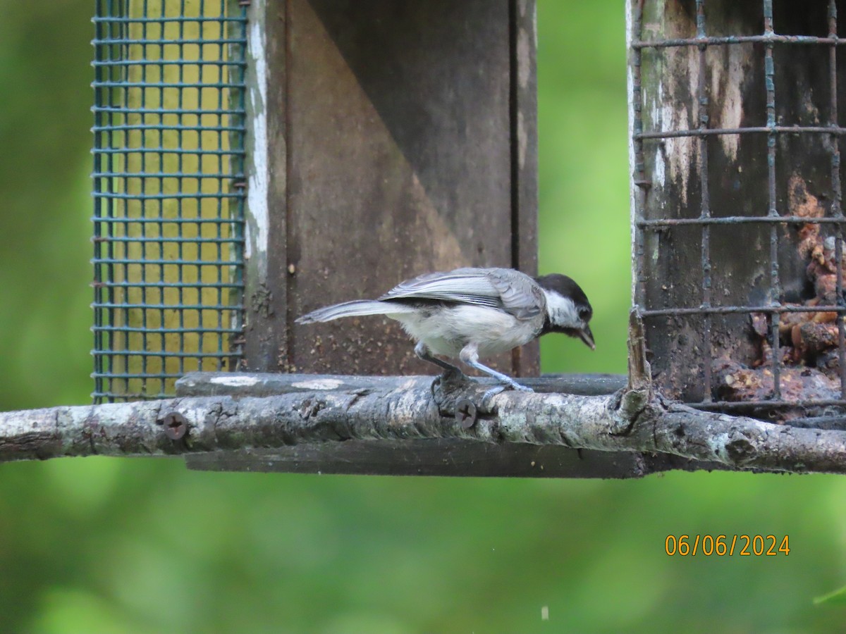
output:
M245 364L432 374L378 317L295 325L458 266L536 274L533 0L253 0ZM533 343L492 359L534 375Z

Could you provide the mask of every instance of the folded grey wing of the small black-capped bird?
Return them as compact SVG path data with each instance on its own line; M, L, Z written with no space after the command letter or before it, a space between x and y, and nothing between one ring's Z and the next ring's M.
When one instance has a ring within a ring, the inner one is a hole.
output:
M544 306L534 280L509 269L456 269L426 273L401 282L382 295L386 299L440 299L503 309L520 320L530 319Z

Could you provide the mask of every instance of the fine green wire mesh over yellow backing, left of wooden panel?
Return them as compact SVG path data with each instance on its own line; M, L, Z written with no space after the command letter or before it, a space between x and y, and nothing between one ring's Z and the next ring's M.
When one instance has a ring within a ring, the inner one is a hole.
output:
M239 359L244 10L96 2L95 402Z

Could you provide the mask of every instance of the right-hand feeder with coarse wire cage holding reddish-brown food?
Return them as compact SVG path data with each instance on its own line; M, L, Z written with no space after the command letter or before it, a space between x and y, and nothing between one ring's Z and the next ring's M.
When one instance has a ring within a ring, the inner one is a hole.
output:
M629 3L633 294L667 396L843 413L842 5Z

